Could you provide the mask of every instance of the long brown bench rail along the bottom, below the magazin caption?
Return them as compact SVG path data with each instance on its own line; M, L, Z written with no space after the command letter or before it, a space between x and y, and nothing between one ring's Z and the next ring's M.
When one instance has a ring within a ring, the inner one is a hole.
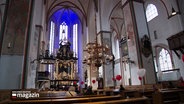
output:
M60 104L60 103L85 103L94 101L119 100L121 96L99 96L99 97L79 97L79 98L52 98L52 99L24 99L10 101L9 104Z

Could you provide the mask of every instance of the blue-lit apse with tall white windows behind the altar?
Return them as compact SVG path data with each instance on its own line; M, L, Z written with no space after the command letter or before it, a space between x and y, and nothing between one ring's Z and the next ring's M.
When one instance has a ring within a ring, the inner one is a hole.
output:
M81 44L81 41L78 41L79 34L81 32L79 31L80 19L78 15L72 9L63 8L54 12L50 20L50 53L56 54L57 50L59 49L60 42L67 40L71 43L70 48L73 50L74 55L78 57L80 53L78 48ZM49 66L49 70L51 70L51 68L53 67Z

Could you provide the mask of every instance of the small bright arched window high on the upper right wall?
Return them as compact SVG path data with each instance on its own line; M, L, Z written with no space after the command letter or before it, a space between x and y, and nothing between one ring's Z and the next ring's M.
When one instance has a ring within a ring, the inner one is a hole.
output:
M150 20L152 20L156 16L158 16L158 11L157 11L156 6L153 4L148 4L148 6L146 7L147 22L149 22Z

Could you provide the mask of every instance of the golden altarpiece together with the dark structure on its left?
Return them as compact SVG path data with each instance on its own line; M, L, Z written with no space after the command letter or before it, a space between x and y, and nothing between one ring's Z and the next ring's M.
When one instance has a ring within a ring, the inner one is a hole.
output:
M70 42L61 41L56 55L46 50L39 56L36 87L41 89L49 83L50 89L60 90L78 83L77 57L70 49ZM42 68L49 70L43 71ZM41 71L42 70L42 71Z

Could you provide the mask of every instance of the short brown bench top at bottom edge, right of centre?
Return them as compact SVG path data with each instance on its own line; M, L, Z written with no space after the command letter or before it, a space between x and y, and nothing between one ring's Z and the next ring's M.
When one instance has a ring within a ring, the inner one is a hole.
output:
M82 104L82 103L74 103ZM85 104L150 104L147 97L137 97L119 100L99 101L99 102L88 102Z

